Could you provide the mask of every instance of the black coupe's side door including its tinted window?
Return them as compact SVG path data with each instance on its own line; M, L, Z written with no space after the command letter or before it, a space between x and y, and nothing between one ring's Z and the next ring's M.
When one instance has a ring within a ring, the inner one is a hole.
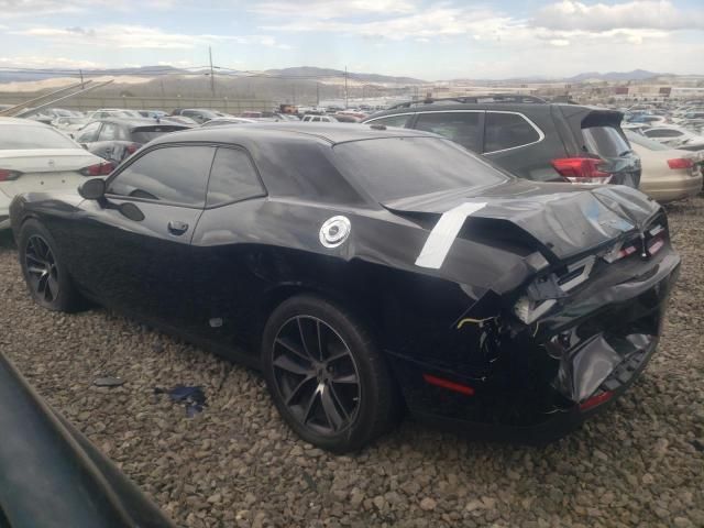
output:
M190 241L215 147L155 145L120 167L103 200L85 200L72 274L100 302L182 326L190 319Z

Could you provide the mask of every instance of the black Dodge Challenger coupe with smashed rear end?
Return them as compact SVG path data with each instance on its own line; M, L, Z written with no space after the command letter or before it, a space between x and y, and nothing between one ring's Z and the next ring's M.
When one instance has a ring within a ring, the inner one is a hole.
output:
M404 408L562 435L644 370L680 263L637 190L517 179L382 125L176 132L11 220L40 305L90 299L261 369L338 452Z

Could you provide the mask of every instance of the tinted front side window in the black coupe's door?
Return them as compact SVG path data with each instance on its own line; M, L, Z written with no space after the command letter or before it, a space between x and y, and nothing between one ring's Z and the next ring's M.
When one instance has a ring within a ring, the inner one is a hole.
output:
M211 146L156 148L118 174L108 193L202 207L213 154Z

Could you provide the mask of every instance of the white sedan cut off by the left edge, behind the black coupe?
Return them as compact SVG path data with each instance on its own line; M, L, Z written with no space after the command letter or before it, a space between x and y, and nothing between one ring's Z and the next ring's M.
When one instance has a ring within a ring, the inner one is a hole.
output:
M76 189L107 176L112 164L46 124L0 118L0 229L10 227L10 201L21 193Z

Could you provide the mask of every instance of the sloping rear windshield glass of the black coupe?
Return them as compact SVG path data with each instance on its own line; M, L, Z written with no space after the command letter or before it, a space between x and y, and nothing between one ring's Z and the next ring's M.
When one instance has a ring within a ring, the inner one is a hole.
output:
M436 138L385 138L334 146L338 168L380 202L484 187L509 176L460 145Z

